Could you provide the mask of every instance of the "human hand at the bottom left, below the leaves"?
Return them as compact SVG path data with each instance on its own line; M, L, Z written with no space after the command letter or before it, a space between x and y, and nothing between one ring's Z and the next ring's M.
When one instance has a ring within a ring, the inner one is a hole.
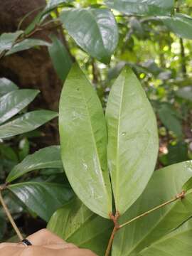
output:
M72 243L65 242L57 235L43 229L27 238L31 246L22 243L3 242L0 244L1 256L97 256L86 249L79 249Z

